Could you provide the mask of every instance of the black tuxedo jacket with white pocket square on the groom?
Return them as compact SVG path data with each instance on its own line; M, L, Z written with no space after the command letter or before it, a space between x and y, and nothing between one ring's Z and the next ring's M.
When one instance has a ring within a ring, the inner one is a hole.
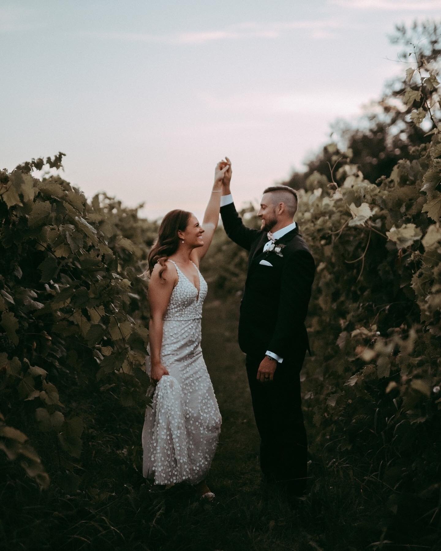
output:
M276 247L282 245L281 257L274 250L263 252L267 232L246 228L234 203L221 207L221 217L228 237L250 252L240 304L240 349L252 355L270 350L283 361L299 349L311 354L305 318L315 262L298 225L276 241ZM272 266L260 264L261 260Z

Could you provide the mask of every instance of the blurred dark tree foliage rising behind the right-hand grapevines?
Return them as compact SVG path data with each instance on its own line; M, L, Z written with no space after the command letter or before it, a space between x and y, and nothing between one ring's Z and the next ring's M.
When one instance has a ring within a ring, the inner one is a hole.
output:
M386 84L382 97L365 106L365 115L356 123L339 120L332 125L331 137L344 158L372 183L389 177L400 159L418 160L419 146L431 140L429 132L441 112L437 88L440 36L441 22L416 22L410 29L397 25L391 42L403 50L390 63L403 64L401 77ZM318 183L326 188L327 177L323 176L329 175L327 163L333 154L323 148L308 161L305 172L295 172L286 183L295 189L314 190Z

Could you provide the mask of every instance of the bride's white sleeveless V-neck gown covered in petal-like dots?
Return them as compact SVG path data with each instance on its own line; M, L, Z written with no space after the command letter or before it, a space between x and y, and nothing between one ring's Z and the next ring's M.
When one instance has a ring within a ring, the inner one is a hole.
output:
M142 430L143 475L155 484L203 480L222 422L201 350L207 283L198 270L198 293L173 263L178 284L165 313L161 348L161 361L169 375L163 375L154 389L152 408L146 409ZM150 356L146 368L150 372Z

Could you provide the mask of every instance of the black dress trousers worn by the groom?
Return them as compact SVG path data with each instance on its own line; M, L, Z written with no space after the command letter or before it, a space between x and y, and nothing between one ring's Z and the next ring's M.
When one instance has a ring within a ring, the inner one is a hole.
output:
M260 467L267 482L281 483L289 494L306 488L308 441L300 396L300 369L306 350L277 364L271 382L257 381L264 354L246 356L252 408L260 434Z

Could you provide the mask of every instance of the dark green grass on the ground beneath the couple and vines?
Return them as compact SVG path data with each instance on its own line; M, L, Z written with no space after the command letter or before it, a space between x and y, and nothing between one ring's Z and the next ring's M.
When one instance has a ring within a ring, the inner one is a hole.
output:
M109 396L78 396L87 430L75 475L57 467L51 448L42 453L52 471L49 490L40 492L18 467L0 474L4 549L343 551L379 541L381 498L363 494L351 469L326 466L308 418L309 495L293 511L283 496L262 487L259 437L236 344L237 303L212 294L203 319L203 352L223 417L208 478L216 502L198 503L185 485L149 491L141 474L142 415L115 406Z

